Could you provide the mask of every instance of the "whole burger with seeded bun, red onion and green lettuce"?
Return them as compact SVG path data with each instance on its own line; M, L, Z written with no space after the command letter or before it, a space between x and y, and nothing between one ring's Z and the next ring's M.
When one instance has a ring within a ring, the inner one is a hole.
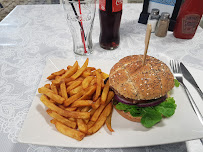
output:
M168 92L174 77L162 61L143 55L127 56L110 70L109 84L115 92L113 105L124 118L141 122L147 128L175 113L176 104Z

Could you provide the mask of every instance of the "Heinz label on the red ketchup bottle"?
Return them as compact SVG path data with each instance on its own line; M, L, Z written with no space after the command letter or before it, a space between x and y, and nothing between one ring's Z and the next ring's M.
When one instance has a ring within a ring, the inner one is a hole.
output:
M200 21L200 15L190 14L182 19L182 33L194 34Z

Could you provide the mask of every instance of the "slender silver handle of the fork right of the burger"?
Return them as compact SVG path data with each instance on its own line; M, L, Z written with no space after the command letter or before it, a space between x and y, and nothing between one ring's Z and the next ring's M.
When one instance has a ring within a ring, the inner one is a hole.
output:
M183 83L181 83L181 84L182 84L182 86L183 86L183 88L185 90L185 93L186 93L186 95L187 95L187 97L188 97L188 99L190 101L190 104L191 104L193 110L195 111L197 117L199 118L199 121L203 125L203 116L202 116L201 112L199 111L194 99L192 98L192 96L191 96L189 90L187 89L187 87L185 86L185 84L183 84Z

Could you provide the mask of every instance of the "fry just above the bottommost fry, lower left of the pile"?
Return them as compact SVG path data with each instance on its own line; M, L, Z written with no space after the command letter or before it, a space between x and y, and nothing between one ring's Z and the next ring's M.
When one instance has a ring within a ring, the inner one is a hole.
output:
M76 128L76 123L73 121L68 120L65 117L62 117L61 115L59 115L58 113L56 113L55 111L52 111L50 109L47 110L47 113L54 119L58 120L59 122L63 123L64 125L71 127L71 128Z

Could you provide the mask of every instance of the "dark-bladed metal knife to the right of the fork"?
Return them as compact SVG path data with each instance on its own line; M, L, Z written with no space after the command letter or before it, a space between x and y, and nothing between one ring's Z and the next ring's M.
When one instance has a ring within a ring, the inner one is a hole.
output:
M199 86L197 85L195 79L193 78L193 76L191 75L191 73L188 71L188 69L184 66L184 64L181 62L180 63L180 68L181 68L181 71L183 73L183 76L184 78L190 82L190 84L193 85L193 87L197 90L197 92L199 93L200 97L202 98L203 100L203 93L201 91L201 89L199 88Z

